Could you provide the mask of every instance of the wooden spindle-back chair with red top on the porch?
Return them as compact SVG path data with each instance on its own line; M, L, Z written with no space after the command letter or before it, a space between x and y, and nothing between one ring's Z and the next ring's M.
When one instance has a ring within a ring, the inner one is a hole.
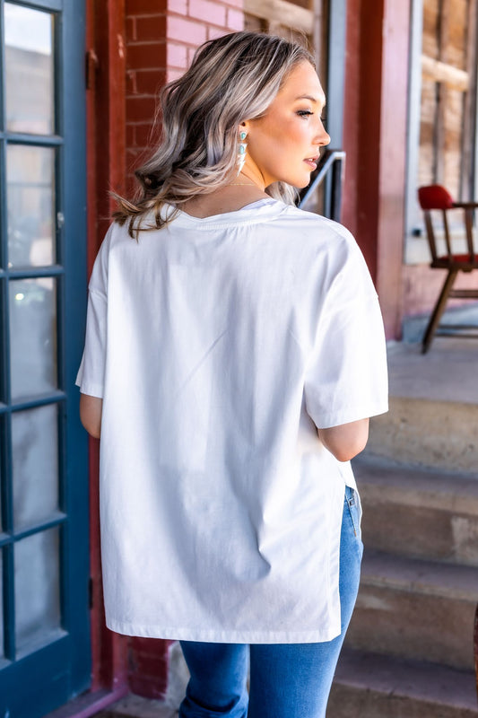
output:
M425 215L425 225L431 252L430 267L432 269L448 269L447 278L439 293L437 303L431 312L430 321L423 336L422 353L426 354L435 333L440 336L456 336L456 332L460 330L460 336L478 337L478 334L463 333L466 329L478 329L477 325L456 324L447 326L439 323L448 299L452 297L459 299L478 299L478 289L453 289L458 272L473 272L474 269L478 269L478 257L474 251L473 235L474 210L478 207L478 202L454 202L447 189L441 187L441 185L430 185L429 187L419 188L418 199ZM443 220L446 252L440 255L437 250L437 235L431 217L431 210L434 209L441 210ZM456 243L456 237L452 238L448 222L448 213L452 209L463 210L467 249L465 254L456 254L452 250L452 239Z

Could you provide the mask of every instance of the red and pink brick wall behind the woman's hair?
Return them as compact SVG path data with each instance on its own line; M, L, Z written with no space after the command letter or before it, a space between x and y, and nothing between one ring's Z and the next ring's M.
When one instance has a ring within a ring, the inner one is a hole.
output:
M155 144L156 99L206 39L244 27L243 0L126 0L126 174Z

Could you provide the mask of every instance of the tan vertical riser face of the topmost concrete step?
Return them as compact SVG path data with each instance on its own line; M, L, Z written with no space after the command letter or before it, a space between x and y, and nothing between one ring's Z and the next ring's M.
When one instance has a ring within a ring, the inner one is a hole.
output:
M388 413L370 420L367 452L476 474L476 404L391 396Z

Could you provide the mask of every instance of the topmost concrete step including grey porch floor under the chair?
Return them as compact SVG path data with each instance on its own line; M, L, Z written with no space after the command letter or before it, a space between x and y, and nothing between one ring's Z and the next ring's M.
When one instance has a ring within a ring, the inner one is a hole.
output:
M478 477L478 344L389 342L390 411L370 423L369 452Z

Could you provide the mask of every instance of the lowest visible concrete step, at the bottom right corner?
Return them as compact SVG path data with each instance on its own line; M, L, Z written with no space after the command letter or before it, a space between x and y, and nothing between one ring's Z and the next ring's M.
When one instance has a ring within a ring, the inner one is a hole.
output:
M327 718L477 718L474 673L343 650Z

